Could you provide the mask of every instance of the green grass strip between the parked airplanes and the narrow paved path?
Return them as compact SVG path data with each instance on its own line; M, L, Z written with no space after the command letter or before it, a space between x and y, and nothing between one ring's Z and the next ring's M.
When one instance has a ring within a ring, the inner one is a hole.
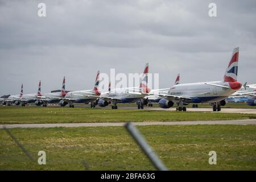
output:
M0 107L0 115L0 123L204 121L256 118L256 114L69 107Z

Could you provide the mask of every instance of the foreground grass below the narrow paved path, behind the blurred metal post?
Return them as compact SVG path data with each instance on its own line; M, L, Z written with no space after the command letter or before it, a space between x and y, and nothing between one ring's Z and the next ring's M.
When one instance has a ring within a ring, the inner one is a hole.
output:
M138 129L172 170L256 170L255 125L140 126ZM153 170L123 127L10 129L36 159L31 162L5 130L0 130L0 169ZM208 152L217 152L217 165Z

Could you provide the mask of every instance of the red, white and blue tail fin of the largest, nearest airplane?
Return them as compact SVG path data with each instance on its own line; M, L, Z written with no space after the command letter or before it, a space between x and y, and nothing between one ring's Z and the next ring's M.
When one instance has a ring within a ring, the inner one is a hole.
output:
M239 47L234 48L231 60L229 61L228 68L224 75L224 82L236 82L237 81L237 69L238 69L238 55Z

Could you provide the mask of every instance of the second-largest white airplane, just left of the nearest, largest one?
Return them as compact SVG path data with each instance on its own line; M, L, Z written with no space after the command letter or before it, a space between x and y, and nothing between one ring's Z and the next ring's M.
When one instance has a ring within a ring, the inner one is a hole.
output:
M148 63L146 63L142 75L142 80L139 84L139 90L135 88L115 88L108 93L102 93L98 96L98 105L100 107L108 106L112 102L112 109L118 109L118 103L134 103L136 102L138 109L144 109L144 105L147 105L147 100L144 99L148 95L150 89L147 87L147 73Z

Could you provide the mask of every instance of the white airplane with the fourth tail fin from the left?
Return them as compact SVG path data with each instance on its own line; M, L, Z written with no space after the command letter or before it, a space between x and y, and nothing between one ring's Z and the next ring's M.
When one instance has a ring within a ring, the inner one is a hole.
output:
M65 94L63 100L60 101L61 106L65 106L69 104L69 107L75 107L73 103L85 103L89 104L91 107L96 106L97 96L100 96L100 90L98 89L98 85L100 83L100 71L97 72L95 84L92 90L79 90L72 91Z

